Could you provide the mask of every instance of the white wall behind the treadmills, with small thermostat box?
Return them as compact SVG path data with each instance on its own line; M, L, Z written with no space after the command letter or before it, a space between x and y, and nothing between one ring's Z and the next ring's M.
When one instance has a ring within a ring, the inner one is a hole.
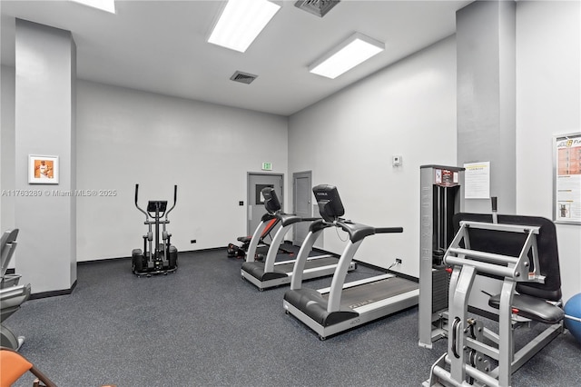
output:
M402 166L391 165L394 154ZM456 164L453 36L290 117L290 175L312 170L313 185L337 185L354 222L404 228L369 237L360 261L387 268L401 258L394 270L419 275L423 164ZM345 243L334 229L325 233L324 247L340 253Z

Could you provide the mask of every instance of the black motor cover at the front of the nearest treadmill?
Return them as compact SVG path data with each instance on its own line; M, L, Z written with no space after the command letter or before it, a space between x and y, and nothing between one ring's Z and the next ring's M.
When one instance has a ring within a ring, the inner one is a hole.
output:
M359 316L359 313L349 309L339 312L327 312L327 300L314 289L291 290L284 293L284 300L308 315L321 326L330 326Z

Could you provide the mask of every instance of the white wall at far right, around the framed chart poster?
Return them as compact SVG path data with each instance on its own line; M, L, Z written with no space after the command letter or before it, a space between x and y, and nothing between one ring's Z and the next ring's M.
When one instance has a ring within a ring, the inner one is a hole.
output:
M517 213L553 219L555 134L581 131L581 5L517 3ZM581 225L557 224L564 300L581 292Z

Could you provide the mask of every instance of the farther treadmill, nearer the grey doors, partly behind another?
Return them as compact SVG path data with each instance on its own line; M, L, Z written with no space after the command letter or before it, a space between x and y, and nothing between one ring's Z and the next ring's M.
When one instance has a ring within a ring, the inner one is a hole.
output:
M252 235L251 244L247 254L247 261L242 263L241 276L243 279L258 287L260 291L263 291L264 289L291 283L296 260L293 259L276 262L277 253L280 250L281 243L284 242L284 236L291 230L291 226L300 222L318 222L320 221L320 218L303 218L292 213L282 213L281 202L279 201L274 188L263 188L261 193L264 196L264 207L268 213L265 213L262 216L261 224L259 224ZM258 245L258 239L260 239L262 230L272 218L278 219L281 223L281 227L272 238L264 262L257 262L254 260L254 255L256 246ZM308 256L304 263L304 270L301 273L302 278L308 280L333 275L337 268L337 264L339 263L339 258L333 254L309 256L311 251L312 244L310 244L309 248L305 250L305 254ZM356 263L350 263L348 271L355 270L356 267Z

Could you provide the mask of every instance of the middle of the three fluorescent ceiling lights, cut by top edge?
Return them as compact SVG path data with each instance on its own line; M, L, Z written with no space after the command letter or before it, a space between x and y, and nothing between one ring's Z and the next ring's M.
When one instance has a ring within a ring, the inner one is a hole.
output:
M243 53L279 9L268 0L230 0L208 42Z

